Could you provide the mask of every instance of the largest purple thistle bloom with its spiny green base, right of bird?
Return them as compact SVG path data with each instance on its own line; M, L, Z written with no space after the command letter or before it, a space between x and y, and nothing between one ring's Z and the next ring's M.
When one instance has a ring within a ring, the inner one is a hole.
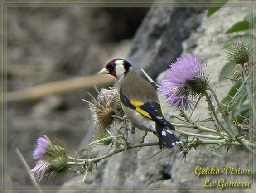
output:
M185 111L192 111L195 101L191 100L208 89L208 76L205 74L207 63L199 63L193 53L182 55L171 63L166 78L160 82L159 91L167 96L166 102Z

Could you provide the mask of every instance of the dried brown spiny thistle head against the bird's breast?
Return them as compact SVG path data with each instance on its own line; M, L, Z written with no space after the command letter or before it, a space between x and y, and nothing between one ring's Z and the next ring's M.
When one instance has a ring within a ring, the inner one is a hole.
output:
M90 110L95 125L103 130L110 128L114 121L113 115L124 115L116 87L101 89L97 99L90 103Z

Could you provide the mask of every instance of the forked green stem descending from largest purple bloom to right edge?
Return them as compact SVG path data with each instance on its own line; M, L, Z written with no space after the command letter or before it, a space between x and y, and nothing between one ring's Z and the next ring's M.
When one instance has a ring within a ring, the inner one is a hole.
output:
M210 85L209 85L209 90L210 90L211 93L213 94L213 97L214 97L214 99L215 99L215 101L216 101L216 103L217 103L217 106L218 106L219 109L220 109L220 112L221 112L221 114L222 114L222 117L223 117L224 121L226 122L227 127L228 127L230 130L228 130L227 128L223 127L223 125L220 123L220 120L219 120L219 118L217 117L217 114L216 114L216 112L215 112L215 110L214 110L213 103L212 103L212 101L210 100L210 96L209 96L208 92L205 91L205 96L206 96L206 98L207 98L207 100L208 100L208 103L209 103L209 105L210 105L210 107L211 107L211 109L212 109L212 111L213 111L213 115L215 116L216 121L218 122L218 124L222 127L222 129L223 129L232 139L236 139L237 142L240 143L245 149L247 149L249 152L253 153L254 150L252 150L243 140L241 140L241 139L235 137L235 132L233 131L233 127L231 126L230 121L227 119L227 116L226 116L225 112L224 112L223 109L222 109L222 106L221 106L221 104L220 104L220 101L219 101L219 99L218 99L216 93L214 92L213 88L212 88ZM256 152L255 152L255 153L256 153Z

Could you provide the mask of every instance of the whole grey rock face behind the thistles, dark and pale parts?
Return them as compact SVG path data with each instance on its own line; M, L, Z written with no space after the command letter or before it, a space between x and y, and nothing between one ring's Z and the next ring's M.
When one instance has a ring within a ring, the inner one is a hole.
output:
M239 9L239 16L232 11L233 8L225 7L207 19L206 11L202 10L194 14L195 9L193 8L154 7L149 11L135 35L129 60L144 68L152 77L156 77L159 72L168 68L172 60L179 57L181 52L184 54L197 53L202 61L208 60L207 71L210 72L211 85L214 88L217 87L217 95L222 99L231 86L229 81L217 83L218 74L226 63L220 50L222 43L229 37L224 32L248 13L246 8L236 9ZM208 116L206 107L206 102L201 100L192 119L206 118ZM171 113L178 114L167 105L164 105L164 111L166 116ZM181 128L181 130L185 129ZM130 134L129 139L138 140L138 136L142 136L143 132L136 130L135 135ZM151 133L145 138L145 142L150 141L157 141L157 138ZM220 158L213 155L209 147L210 145L204 145L198 147L196 151L190 150L186 162L184 159L182 160L182 154L177 147L164 150L151 159L145 158L157 152L159 147L142 148L139 152L127 150L101 160L97 164L97 169L94 168L92 174L88 175L87 186L77 186L76 188L189 190L202 189L206 179L217 183L222 178L229 182L250 181L252 183L250 175L223 174L196 177L194 171L197 166L215 166L217 169L223 169L224 166L251 169L251 156L245 150L232 147L226 154L226 149L223 148L218 151L224 156L224 158ZM65 189L65 185L78 185L81 178L76 177L65 183L63 189Z

